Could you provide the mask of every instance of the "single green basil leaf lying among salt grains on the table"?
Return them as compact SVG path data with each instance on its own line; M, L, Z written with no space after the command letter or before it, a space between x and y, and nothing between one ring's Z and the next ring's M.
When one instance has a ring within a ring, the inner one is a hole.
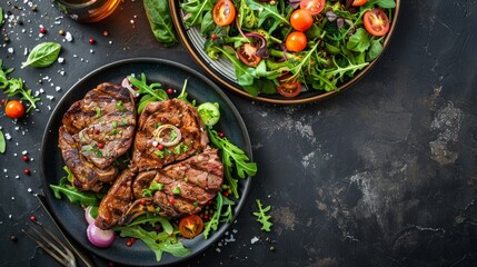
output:
M42 42L31 50L27 61L21 63L21 68L23 69L27 66L34 68L48 67L58 59L60 50L61 44L57 42Z

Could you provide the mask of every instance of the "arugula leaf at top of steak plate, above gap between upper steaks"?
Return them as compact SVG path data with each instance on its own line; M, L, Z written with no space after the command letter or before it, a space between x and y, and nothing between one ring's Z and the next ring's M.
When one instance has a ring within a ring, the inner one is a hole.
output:
M148 105L149 102L169 99L167 92L163 89L160 89L161 83L153 82L151 85L148 85L145 73L141 73L140 80L132 76L128 76L128 80L131 82L132 86L138 88L139 95L146 95L141 97L141 100L139 100L138 113L141 113L142 110L146 108L146 105Z

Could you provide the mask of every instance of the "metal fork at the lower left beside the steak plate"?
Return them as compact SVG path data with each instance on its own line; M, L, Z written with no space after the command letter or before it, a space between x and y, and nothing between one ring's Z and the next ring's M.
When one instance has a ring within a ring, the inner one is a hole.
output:
M53 233L43 227L43 225L41 225L39 221L34 221L34 224L38 225L38 228L47 235L41 234L39 230L37 230L34 227L31 227L29 224L26 225L40 238L34 237L32 234L26 231L24 229L21 229L21 231L23 231L24 235L27 235L34 243L37 243L38 246L40 246L44 251L47 251L61 265L67 267L76 267L77 261L71 250L58 237L56 237ZM49 238L47 236L49 236ZM59 246L51 241L51 239L53 239Z

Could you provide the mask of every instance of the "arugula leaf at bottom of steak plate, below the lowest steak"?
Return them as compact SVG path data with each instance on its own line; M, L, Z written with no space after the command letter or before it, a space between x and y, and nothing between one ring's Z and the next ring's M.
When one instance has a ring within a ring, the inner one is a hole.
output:
M120 231L121 237L135 237L140 239L156 255L156 260L160 261L162 253L169 253L175 257L186 257L190 250L181 243L178 243L175 235L169 235L166 231L156 233L147 231L140 226L127 226L115 228Z

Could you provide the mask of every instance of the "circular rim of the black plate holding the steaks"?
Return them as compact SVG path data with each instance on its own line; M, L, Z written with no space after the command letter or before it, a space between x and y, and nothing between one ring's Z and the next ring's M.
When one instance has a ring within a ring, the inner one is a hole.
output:
M250 136L247 129L247 126L244 121L244 118L240 116L239 110L237 109L237 107L233 105L233 102L227 97L227 95L208 77L201 75L200 72L198 72L197 70L179 63L179 62L175 62L171 60L167 60L167 59L161 59L161 58L146 58L146 57L135 57L135 58L127 58L127 59L120 59L117 61L112 61L106 65L102 65L100 67L98 67L97 69L95 69L93 71L88 72L87 75L85 75L82 78L80 78L77 82L74 82L67 91L66 93L63 93L63 96L61 97L61 99L58 101L58 103L56 105L56 107L52 109L51 115L47 121L43 135L42 135L42 139L41 139L41 154L40 154L40 159L39 159L39 172L40 172L40 177L41 177L41 185L42 185L42 195L44 196L44 198L47 199L47 205L49 210L51 211L51 215L54 219L56 222L58 222L58 226L61 228L61 230L70 238L72 238L72 240L77 244L80 245L81 248L88 250L88 253L93 254L96 256L99 256L101 258L108 259L108 260L112 260L115 263L118 264L126 264L129 265L130 263L125 263L125 261L120 261L117 260L115 257L108 257L107 254L98 254L98 251L103 251L105 249L97 249L97 250L92 250L90 247L85 246L79 238L74 237L72 234L70 234L70 231L68 230L68 227L63 224L62 220L59 219L59 216L57 215L57 211L52 208L52 201L53 200L58 200L54 198L53 194L50 191L50 187L49 184L47 182L47 178L46 178L46 168L44 168L44 159L46 159L46 149L43 149L46 146L48 146L48 136L51 134L52 130L58 130L58 129L51 129L52 125L54 123L54 120L58 119L56 118L57 113L57 109L61 108L64 103L64 101L68 101L68 97L70 96L70 93L73 93L73 91L71 91L73 88L77 88L79 85L81 85L82 82L85 82L86 80L90 79L91 77L101 73L102 71L107 71L110 68L115 68L115 67L120 67L120 66L125 66L125 65L133 65L133 63L143 63L143 62L148 62L148 63L156 63L156 65L167 65L167 66L173 66L176 68L182 69L183 71L190 73L190 76L195 76L196 78L200 79L201 81L203 81L205 83L207 83L208 86L210 86L220 98L221 100L223 100L228 108L230 109L230 112L232 115L232 117L237 120L238 122L238 128L240 129L240 134L241 134L241 139L244 141L245 147L241 148L246 155L249 157L250 161L254 161L254 155L252 155L252 147L251 147L251 141L250 141ZM81 99L80 97L78 97L78 100ZM228 221L228 222L222 222L219 228L212 233L211 236L209 236L208 239L201 239L201 240L197 240L199 243L201 241L208 241L206 245L199 246L199 248L193 251L193 254L191 253L190 255L186 256L186 257L175 257L177 260L173 263L163 263L163 261L156 261L156 258L153 258L153 261L149 263L135 263L135 265L137 266L165 266L165 265L175 265L175 264L179 264L179 263L183 263L188 259L191 259L193 257L197 257L198 255L200 255L200 253L202 253L203 250L206 250L207 248L209 248L210 246L212 246L213 244L216 244L218 241L218 239L220 239L223 234L231 227L231 225L236 221L239 212L241 211L246 199L249 195L250 191L250 185L251 185L251 177L246 177L246 179L242 179L244 181L244 190L240 192L240 198L237 201L237 204L235 205L236 208L233 209L233 216L232 216L232 220ZM240 181L240 180L239 180ZM67 201L66 199L62 199L61 201ZM193 239L192 239L193 240ZM197 241L195 241L192 245L195 245ZM151 250L152 251L152 250ZM152 254L153 255L153 254ZM169 254L168 254L169 255ZM169 255L170 257L173 257L172 255Z

